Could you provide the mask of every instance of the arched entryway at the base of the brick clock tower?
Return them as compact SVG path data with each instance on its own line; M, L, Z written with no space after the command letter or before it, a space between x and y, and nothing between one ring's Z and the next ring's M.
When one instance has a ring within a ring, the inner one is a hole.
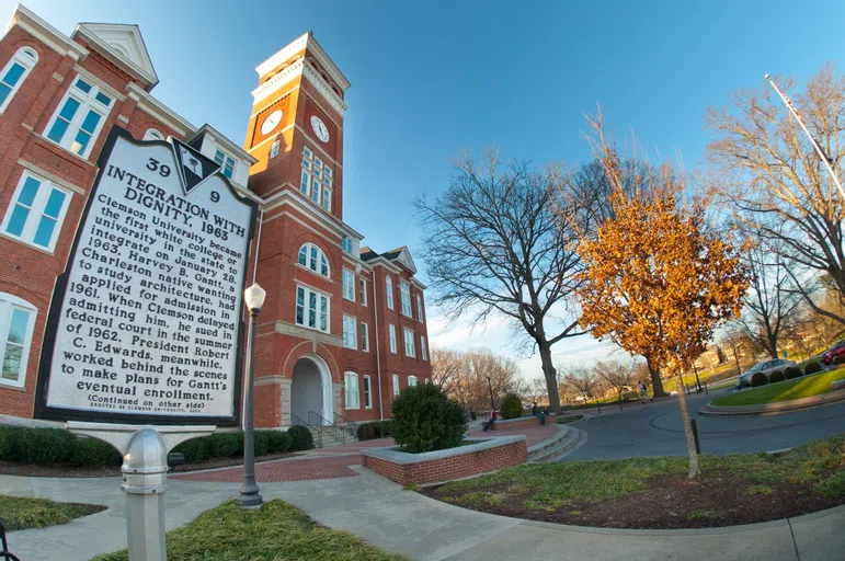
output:
M292 425L333 423L331 371L319 355L302 355L294 365L290 376L290 413Z

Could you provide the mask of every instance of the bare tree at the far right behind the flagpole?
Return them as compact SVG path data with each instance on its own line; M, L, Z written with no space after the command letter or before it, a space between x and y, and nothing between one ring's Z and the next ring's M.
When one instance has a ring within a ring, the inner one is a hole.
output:
M790 80L781 80L786 90ZM845 314L818 301L820 276L845 302L845 207L827 169L781 101L770 92L743 91L733 112L710 110L709 128L721 138L709 147L720 170L719 191L740 224L778 251L795 289L817 313L845 323ZM845 144L845 79L827 65L793 103L840 173Z

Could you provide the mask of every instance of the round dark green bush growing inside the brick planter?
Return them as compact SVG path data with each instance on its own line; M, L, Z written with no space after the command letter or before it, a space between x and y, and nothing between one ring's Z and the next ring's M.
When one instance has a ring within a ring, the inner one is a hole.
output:
M393 438L412 454L454 448L467 432L460 404L433 383L403 389L390 409Z

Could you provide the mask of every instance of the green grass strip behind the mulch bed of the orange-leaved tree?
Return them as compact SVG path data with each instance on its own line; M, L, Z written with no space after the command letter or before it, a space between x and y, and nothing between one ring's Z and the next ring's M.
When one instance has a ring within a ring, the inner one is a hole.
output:
M806 483L824 496L845 495L845 435L800 446L780 456L736 454L701 456L707 478L730 474L749 482L749 494L770 492L769 485ZM437 490L449 503L491 506L511 495L525 495L530 510L553 511L568 501L600 503L648 489L654 476L686 473L684 457L529 463L498 473L446 483Z

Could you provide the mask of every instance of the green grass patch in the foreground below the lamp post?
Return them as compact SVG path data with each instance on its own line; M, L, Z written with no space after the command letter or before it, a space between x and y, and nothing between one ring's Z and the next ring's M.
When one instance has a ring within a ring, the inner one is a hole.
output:
M167 535L169 561L404 561L347 531L320 526L284 501L242 511L235 501L206 511ZM92 561L127 561L126 550Z

